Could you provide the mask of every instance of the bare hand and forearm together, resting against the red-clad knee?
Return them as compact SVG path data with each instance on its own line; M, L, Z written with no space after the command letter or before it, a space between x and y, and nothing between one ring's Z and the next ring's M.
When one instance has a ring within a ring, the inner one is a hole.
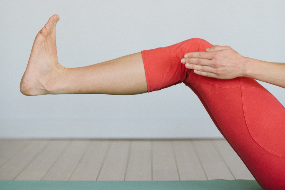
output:
M229 46L214 46L207 52L191 52L181 63L199 75L217 79L250 77L285 88L285 64L241 56Z

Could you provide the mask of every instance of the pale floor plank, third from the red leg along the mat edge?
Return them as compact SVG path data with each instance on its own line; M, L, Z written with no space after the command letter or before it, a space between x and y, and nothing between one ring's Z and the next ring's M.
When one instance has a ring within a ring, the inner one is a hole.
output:
M181 180L207 180L190 140L174 141Z

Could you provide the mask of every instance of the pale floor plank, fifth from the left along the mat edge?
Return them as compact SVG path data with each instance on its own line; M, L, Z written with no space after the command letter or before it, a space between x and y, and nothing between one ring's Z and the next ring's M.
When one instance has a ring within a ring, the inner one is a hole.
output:
M98 181L123 181L129 152L129 141L113 141Z

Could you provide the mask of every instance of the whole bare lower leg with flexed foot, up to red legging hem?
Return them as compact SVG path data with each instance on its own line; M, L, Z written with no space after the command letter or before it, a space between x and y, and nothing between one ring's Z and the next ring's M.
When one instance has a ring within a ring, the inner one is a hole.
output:
M64 68L56 52L58 15L37 34L20 90L25 95L42 94L140 94L147 92L141 53L80 68Z

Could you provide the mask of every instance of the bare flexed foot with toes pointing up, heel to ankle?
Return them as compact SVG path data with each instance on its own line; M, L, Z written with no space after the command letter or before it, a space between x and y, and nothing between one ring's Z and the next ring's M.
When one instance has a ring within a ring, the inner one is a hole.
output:
M24 95L55 93L56 81L64 70L64 67L58 63L56 52L58 20L58 15L50 17L34 40L28 66L20 83L20 91Z

